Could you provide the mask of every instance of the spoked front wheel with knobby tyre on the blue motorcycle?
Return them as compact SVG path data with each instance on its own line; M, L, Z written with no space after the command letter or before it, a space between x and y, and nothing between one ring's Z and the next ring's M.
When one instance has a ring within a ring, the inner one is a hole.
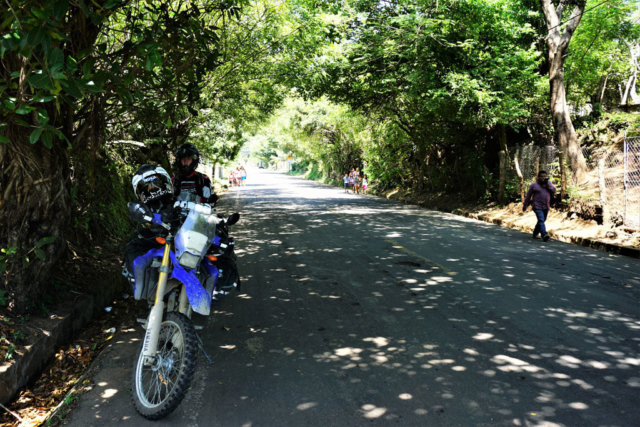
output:
M142 345L131 380L133 403L145 418L159 420L172 413L191 386L198 357L196 332L184 314L165 316L153 364L145 365Z

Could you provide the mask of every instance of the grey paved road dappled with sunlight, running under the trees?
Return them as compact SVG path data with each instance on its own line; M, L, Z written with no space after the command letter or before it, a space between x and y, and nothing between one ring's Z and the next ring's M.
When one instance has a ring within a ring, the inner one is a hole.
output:
M72 426L640 425L637 260L273 172L235 210L245 293L195 319L215 363L148 422L123 332Z

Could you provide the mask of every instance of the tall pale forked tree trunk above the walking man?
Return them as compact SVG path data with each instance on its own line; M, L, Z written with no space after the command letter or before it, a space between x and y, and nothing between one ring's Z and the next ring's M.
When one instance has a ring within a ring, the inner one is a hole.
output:
M554 8L551 0L540 0L542 11L545 15L547 29L546 45L549 53L549 88L551 95L551 116L555 140L561 151L567 156L571 170L578 184L587 180L587 165L580 151L578 138L569 114L567 96L564 86L564 60L568 54L569 43L575 32L582 14L585 3L580 2L566 21L562 30L562 13L566 3L561 2L558 8Z

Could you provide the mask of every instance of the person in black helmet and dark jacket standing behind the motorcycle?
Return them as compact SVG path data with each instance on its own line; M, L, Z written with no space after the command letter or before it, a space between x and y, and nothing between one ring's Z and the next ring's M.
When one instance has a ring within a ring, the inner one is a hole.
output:
M180 193L190 193L200 196L199 203L214 204L218 196L213 192L211 179L196 168L200 163L200 152L195 145L182 144L176 150L176 173L171 181L173 182L174 194L180 197Z

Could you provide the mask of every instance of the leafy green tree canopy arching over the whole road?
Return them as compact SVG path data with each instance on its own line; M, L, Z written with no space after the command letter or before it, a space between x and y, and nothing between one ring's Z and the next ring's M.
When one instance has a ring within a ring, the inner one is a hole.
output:
M571 30L572 114L635 102L637 1L547 3ZM507 142L559 143L544 5L7 0L2 286L21 309L79 224L86 239L123 233L131 172L170 168L186 141L211 162L250 143L263 161L294 153L334 179L359 166L383 187L492 197Z

